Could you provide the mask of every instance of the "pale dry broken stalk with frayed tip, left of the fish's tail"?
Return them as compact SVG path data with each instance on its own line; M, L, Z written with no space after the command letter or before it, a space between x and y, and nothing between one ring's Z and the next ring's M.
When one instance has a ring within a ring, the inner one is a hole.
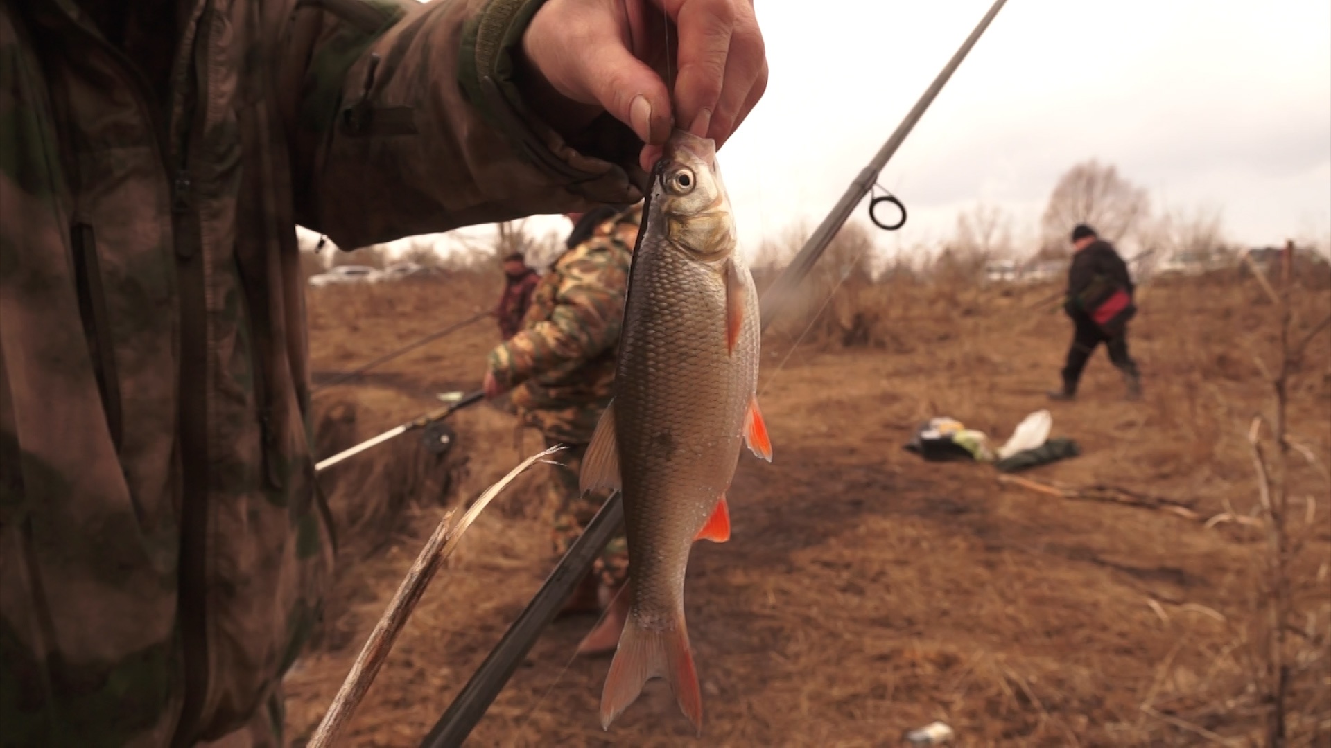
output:
M346 680L342 681L342 688L338 689L333 704L323 715L323 720L319 721L319 727L314 731L307 748L327 748L337 743L342 731L351 721L355 708L369 692L370 684L374 683L374 676L378 675L379 667L383 665L389 652L393 651L393 643L397 640L398 634L401 634L407 618L411 616L411 611L415 610L417 603L421 602L421 595L425 594L430 579L434 578L439 566L457 550L462 534L471 527L471 523L484 511L490 500L499 495L508 483L512 483L532 463L562 449L564 447L554 446L522 461L518 467L514 467L495 484L486 488L455 526L449 527L453 512L445 514L443 519L434 528L434 532L430 534L430 539L426 540L425 547L421 548L421 554L411 564L411 568L407 570L407 575L402 579L402 584L398 586L398 591L389 603L389 608L383 612L379 623L374 626L374 631L370 632L370 638L355 657L351 671L346 675Z

